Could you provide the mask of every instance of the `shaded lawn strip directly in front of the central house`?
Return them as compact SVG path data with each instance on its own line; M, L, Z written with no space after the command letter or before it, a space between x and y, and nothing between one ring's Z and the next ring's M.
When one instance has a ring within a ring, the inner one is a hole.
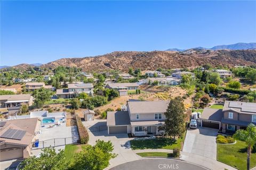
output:
M131 140L131 147L133 150L137 149L174 149L180 148L184 138L179 138L177 141L173 141L171 138L156 138L145 140Z

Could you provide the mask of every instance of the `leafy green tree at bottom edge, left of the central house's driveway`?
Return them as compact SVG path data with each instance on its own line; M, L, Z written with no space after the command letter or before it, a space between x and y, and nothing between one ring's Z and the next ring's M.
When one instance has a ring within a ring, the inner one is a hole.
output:
M113 150L111 141L97 140L94 146L86 145L74 156L69 169L104 169L109 165L109 160L117 156L111 153Z

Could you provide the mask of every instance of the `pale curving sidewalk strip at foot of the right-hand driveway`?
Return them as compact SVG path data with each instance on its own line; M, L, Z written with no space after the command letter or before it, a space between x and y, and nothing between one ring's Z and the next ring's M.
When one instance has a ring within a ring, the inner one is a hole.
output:
M223 169L228 169L228 170L237 170L234 167L231 167L227 164L223 164L221 162L218 162L217 160L211 159L211 158L206 158L200 155L196 154L191 154L188 152L183 152L181 151L181 160L185 160L190 163L194 163L197 165L201 165L203 167L213 169L213 170L223 170Z

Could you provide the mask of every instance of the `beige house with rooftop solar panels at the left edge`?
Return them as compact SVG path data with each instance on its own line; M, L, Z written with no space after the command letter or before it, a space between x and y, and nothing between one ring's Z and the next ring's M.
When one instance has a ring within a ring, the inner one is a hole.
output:
M41 131L39 118L0 122L0 161L28 158L30 150Z

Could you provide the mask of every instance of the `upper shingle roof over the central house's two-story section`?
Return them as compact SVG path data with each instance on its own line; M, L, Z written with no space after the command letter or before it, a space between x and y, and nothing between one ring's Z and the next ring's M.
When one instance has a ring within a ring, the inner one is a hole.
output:
M164 113L169 101L127 101L130 113Z

